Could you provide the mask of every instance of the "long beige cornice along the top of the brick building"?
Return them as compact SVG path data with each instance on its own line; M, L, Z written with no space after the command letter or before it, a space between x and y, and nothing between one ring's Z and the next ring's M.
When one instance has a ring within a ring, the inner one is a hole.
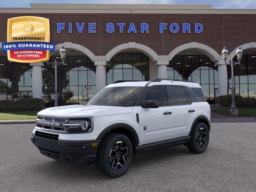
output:
M256 9L212 9L212 5L31 3L30 6L0 8L0 13L256 14Z

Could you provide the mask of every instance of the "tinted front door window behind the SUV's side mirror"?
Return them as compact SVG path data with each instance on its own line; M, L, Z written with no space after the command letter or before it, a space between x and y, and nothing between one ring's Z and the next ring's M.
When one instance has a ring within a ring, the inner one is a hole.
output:
M159 106L168 105L168 96L167 90L165 86L156 86L150 88L150 90L146 94L145 101L147 100L157 100L159 102Z

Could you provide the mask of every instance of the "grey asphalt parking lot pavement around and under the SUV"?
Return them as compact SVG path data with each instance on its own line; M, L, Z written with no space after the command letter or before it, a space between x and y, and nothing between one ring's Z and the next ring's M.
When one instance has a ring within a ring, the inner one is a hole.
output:
M135 155L121 178L95 165L64 164L40 154L33 124L0 125L0 191L178 192L256 191L256 123L212 123L203 154L177 146Z

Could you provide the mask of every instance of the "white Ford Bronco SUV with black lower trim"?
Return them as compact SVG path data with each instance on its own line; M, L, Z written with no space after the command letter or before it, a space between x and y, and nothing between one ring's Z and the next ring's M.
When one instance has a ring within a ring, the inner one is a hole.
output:
M184 144L194 153L206 150L210 105L199 84L155 78L116 82L85 105L38 112L31 140L45 156L90 164L104 175L120 177L133 154Z

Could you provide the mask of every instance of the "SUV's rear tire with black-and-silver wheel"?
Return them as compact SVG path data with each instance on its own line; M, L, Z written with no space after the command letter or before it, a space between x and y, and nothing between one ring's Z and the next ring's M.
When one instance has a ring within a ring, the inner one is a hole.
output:
M192 130L191 139L188 144L188 150L193 153L203 153L209 143L208 126L202 122L197 122Z

